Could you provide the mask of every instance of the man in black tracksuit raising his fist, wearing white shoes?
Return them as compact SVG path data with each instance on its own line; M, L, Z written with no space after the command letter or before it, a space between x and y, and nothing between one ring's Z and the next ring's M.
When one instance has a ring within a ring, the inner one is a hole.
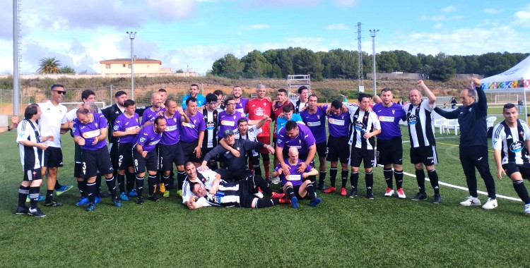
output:
M484 90L481 87L481 80L473 78L476 90L472 88L461 90L460 99L462 106L454 111L443 111L435 108L435 111L448 119L458 118L460 127L460 162L464 174L466 175L469 197L460 202L465 207L481 205L478 199L475 168L484 180L488 190L488 201L482 206L483 209L494 209L497 207L495 196L495 181L490 173L488 163L488 137L486 133L486 114L488 102ZM475 102L478 95L478 101Z

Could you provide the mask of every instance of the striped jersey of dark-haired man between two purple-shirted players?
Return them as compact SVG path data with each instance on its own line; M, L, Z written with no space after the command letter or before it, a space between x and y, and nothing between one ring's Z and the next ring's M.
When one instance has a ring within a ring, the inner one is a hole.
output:
M375 137L370 139L363 138L365 133L370 133L376 129L381 129L381 123L375 112L360 111L359 106L346 105L350 112L351 130L348 144L357 148L374 150Z

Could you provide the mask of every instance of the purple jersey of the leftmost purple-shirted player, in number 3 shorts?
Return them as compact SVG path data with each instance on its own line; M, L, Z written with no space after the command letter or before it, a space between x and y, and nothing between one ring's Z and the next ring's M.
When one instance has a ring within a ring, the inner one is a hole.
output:
M90 123L81 123L77 118L73 119L72 133L74 136L85 139L85 145L81 146L84 150L98 150L107 146L107 139L99 140L95 145L94 138L101 135L101 129L107 128L107 119L100 113L93 113L94 120ZM105 130L107 131L107 130Z

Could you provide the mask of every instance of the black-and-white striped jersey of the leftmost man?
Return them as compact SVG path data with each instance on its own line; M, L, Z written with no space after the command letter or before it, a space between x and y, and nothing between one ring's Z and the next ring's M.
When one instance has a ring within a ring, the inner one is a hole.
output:
M31 142L40 142L40 131L37 128L37 124L24 119L18 124L16 128L16 142L23 140L29 140ZM22 169L24 171L30 169L40 169L40 159L42 159L42 150L38 147L18 145L20 151L20 162L22 163Z

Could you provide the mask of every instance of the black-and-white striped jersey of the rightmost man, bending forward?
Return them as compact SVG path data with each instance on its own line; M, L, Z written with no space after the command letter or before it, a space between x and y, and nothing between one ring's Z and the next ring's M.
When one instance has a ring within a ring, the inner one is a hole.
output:
M508 162L524 164L529 162L529 149L525 141L530 140L530 129L526 122L517 119L517 127L510 128L505 121L493 128L491 142L493 150L500 150L502 164Z

